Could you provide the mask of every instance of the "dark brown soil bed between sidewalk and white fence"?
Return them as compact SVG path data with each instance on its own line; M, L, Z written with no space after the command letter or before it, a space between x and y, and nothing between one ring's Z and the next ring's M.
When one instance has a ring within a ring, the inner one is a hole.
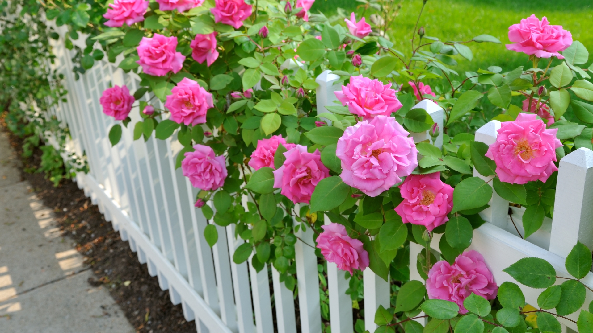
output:
M12 147L20 155L22 140L4 125L0 116L0 130L8 132ZM41 155L42 151L35 149L33 156L23 159L23 168L39 167ZM149 276L146 264L140 264L129 244L120 239L75 182L63 180L53 187L43 174L24 171L21 179L30 182L43 203L53 208L63 236L71 238L85 256L95 274L88 283L109 289L136 332L196 332L195 323L183 318L181 305L171 303L169 292L160 289L157 277Z

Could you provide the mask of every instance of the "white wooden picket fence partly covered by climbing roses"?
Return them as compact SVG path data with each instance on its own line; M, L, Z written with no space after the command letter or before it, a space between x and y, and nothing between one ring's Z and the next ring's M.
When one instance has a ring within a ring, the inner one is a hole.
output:
M63 29L57 28L63 33ZM84 37L74 41L81 47ZM65 75L68 102L49 110L68 124L72 140L68 149L82 156L86 153L90 172L76 175L78 187L97 204L105 219L129 241L138 260L148 265L151 276L157 276L162 290L169 290L171 302L183 306L187 321L196 321L200 333L295 333L297 316L294 294L279 282L275 268L265 267L256 273L248 262L235 264L232 254L242 239L234 238L234 226L216 226L219 239L210 248L203 237L208 221L201 210L193 207L197 190L175 169L175 157L181 150L176 134L172 139L147 142L133 140L134 124L141 120L138 107L133 108L132 121L123 130L120 143L111 147L107 133L116 122L101 111L99 98L112 85L127 85L130 91L139 88L139 77L123 73L115 64L100 61L78 81L72 73L71 52L60 39L54 44L55 68ZM121 61L123 57L118 59ZM118 61L118 62L119 62ZM337 75L326 71L317 78L317 106L321 113L325 105L333 105ZM148 96L146 96L148 97ZM162 105L159 105L162 108ZM443 110L432 101L422 101L415 107L425 108L442 129ZM500 123L490 121L476 133L476 140L492 143ZM427 133L412 133L416 141L428 139ZM436 145L442 145L442 135ZM481 177L480 175L476 174ZM485 223L474 231L470 249L476 249L486 259L496 283L512 281L502 270L524 257L540 257L551 262L559 276L568 276L564 258L576 243L593 248L593 152L578 149L560 162L554 219L528 239L519 238L509 219L509 205L494 194L490 208L482 213ZM512 207L514 220L522 232L521 209ZM326 219L329 220L329 219ZM311 229L302 233L295 245L299 324L302 333L321 333L319 278L317 257ZM438 252L439 236L432 242ZM410 275L422 280L416 271L416 257L422 249L410 245ZM352 333L352 301L345 294L348 281L335 264L327 265L330 298L331 332ZM272 281L270 283L270 281ZM593 287L593 276L582 281ZM561 283L559 280L557 283ZM270 294L273 290L273 296ZM522 286L528 303L537 305L541 290ZM364 271L365 328L373 332L375 309L387 307L390 285L371 270ZM585 306L591 301L589 294ZM275 313L272 313L272 297ZM275 322L273 321L275 315ZM576 321L577 314L570 315ZM561 319L565 328L576 325Z

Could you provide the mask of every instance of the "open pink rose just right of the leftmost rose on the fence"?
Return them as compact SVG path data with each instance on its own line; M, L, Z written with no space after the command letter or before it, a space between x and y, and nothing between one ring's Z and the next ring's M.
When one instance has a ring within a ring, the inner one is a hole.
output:
M178 124L203 124L206 112L214 107L212 94L196 81L183 78L167 95L165 107L171 111L171 120Z

